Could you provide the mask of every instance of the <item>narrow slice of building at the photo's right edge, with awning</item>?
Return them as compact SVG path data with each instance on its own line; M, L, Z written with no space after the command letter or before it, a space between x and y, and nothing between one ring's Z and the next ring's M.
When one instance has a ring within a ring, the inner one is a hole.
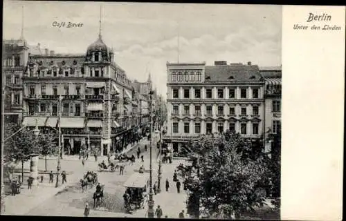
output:
M265 148L270 151L269 135L276 134L281 129L282 68L261 67L260 72L265 80Z

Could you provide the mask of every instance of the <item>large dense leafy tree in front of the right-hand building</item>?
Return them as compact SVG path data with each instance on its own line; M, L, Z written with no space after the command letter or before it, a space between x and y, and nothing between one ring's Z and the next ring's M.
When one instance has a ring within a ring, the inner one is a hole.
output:
M188 210L209 218L239 218L255 206L262 206L264 197L257 186L266 177L264 154L253 157L251 143L239 134L227 131L217 138L202 137L190 147L192 169L188 180ZM197 172L196 172L197 171ZM199 204L197 207L193 204Z

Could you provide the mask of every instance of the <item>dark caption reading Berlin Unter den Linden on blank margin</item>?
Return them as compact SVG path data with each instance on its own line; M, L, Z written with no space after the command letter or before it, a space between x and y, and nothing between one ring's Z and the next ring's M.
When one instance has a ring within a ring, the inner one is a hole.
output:
M331 21L331 15L327 13L323 13L322 15L315 15L313 13L309 13L307 17L307 22L311 21ZM331 25L331 24L321 24L321 25L307 25L296 23L293 25L293 30L341 30L341 26Z

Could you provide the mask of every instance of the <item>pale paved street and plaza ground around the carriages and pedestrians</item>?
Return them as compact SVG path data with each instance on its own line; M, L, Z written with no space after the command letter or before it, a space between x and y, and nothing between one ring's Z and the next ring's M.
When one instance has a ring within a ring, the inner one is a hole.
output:
M158 137L154 138L154 144ZM148 151L144 152L144 145L147 144ZM51 215L51 216L83 216L84 206L86 202L91 206L91 217L145 217L147 215L147 205L145 209L138 209L131 214L125 213L123 206L122 195L125 193L125 187L123 184L134 172L139 169L141 165L145 166L146 170L149 170L149 141L143 139L138 145L134 146L127 155L136 155L136 151L140 147L144 155L144 162L140 162L140 159L136 159L134 164L127 164L125 167L124 175L119 175L119 171L115 172L97 172L98 180L101 184L104 184L104 199L102 206L97 209L93 209L93 193L95 187L88 189L86 193L82 193L82 189L79 184L80 178L86 171L97 171L98 166L93 157L89 157L84 166L82 162L78 160L78 156L64 157L62 160L62 170L69 173L67 176L67 184L60 185L55 188L55 177L53 183L48 183L48 175L44 178L43 183L39 183L39 186L33 187L28 190L24 183L24 188L21 189L21 193L15 196L6 196L6 215ZM157 181L158 175L158 159L156 155L158 149L156 145L152 149L153 159L153 184ZM99 157L98 163L105 160L107 157ZM162 164L162 180L161 190L162 192L154 195L155 207L160 204L163 209L163 216L167 215L169 218L178 218L179 212L185 209L186 194L184 191L181 193L176 192L175 182L172 182L172 176L174 169L183 160L174 160L172 164ZM24 168L28 168L28 163ZM48 171L56 171L57 161L50 159L47 162ZM44 171L44 160L39 160L39 171ZM165 180L170 181L170 190L165 191ZM61 182L61 177L60 177ZM18 202L26 202L17 206Z

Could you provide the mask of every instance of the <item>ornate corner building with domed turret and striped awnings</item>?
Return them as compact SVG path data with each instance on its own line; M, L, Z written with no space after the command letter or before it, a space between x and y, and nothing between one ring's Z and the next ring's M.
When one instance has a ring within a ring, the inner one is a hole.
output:
M85 144L107 155L136 138L134 88L101 35L84 55L29 55L23 87L23 123L55 128L61 113L64 153Z

